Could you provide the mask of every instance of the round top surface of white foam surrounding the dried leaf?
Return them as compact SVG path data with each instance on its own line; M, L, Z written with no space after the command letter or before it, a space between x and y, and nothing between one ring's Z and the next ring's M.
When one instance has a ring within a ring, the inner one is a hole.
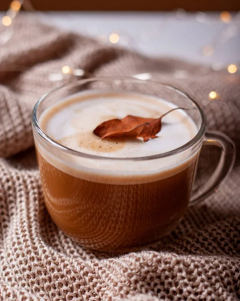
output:
M103 121L126 115L157 118L176 107L172 103L130 93L91 94L59 102L42 115L44 131L59 143L91 155L106 157L145 157L168 152L191 140L197 128L185 111L173 111L162 118L158 138L103 139L93 134Z

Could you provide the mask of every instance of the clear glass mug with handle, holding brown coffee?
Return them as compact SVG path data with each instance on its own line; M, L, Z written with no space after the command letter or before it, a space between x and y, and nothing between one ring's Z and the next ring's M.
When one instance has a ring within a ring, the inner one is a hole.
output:
M109 158L65 147L42 130L39 118L47 108L92 89L138 92L184 107L197 126L197 134L167 153L141 158ZM223 133L205 132L204 113L193 99L178 89L151 81L90 78L64 85L36 103L32 126L48 212L67 235L96 250L128 251L159 240L178 225L189 205L204 200L216 190L234 163L233 142ZM201 195L190 199L203 143L218 146L221 157ZM181 169L176 170L174 164L179 155ZM150 161L156 169L159 167L159 175L163 172L164 177L146 181L146 167ZM101 165L104 170L98 170ZM139 165L145 166L145 170L136 180L135 171Z

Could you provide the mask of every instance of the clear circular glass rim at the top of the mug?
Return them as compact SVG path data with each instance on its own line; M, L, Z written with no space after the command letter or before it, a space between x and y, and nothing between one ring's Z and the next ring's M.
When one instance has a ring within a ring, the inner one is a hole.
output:
M196 107L196 109L200 113L201 125L200 125L199 130L197 131L195 136L191 140L189 140L187 143L185 143L185 144L183 144L183 145L181 145L177 148L174 148L172 150L169 150L168 152L161 153L161 154L156 154L156 155L151 155L151 156L145 156L145 157L120 158L120 157L104 157L104 156L90 155L90 154L87 154L87 153L78 152L77 150L71 149L67 146L64 146L64 145L58 143L57 141L52 139L50 136L48 136L41 129L41 127L39 125L39 122L38 122L38 119L37 119L37 110L38 110L39 105L45 99L47 99L49 95L55 93L56 91L62 90L64 88L70 88L72 86L85 84L85 83L88 83L88 82L110 81L110 80L131 81L131 82L135 82L135 83L150 82L152 84L163 86L165 88L168 88L169 90L175 91L175 92L183 95L184 97L188 98L192 102L192 104ZM85 158L88 158L88 159L97 159L97 160L143 161L143 160L161 159L161 158L166 158L166 157L169 157L169 156L172 156L172 155L176 155L176 154L179 154L181 152L184 152L184 150L186 150L186 149L190 148L191 146L195 145L198 141L200 141L200 139L203 137L203 135L205 133L206 117L205 117L205 114L203 113L201 107L198 105L198 103L195 100L193 100L188 94L182 92L178 88L175 88L171 85L163 84L163 83L152 81L152 80L135 79L133 77L91 77L91 78L80 79L80 80L72 82L72 83L67 83L67 84L61 85L60 87L54 88L54 89L50 90L49 92L45 93L34 105L34 108L33 108L33 111L32 111L32 125L33 125L33 128L36 130L37 134L39 134L45 141L47 141L47 143L50 143L51 145L53 145L54 147L59 149L61 152L64 152L64 153L67 153L67 154L71 154L71 155L74 155L74 156L77 156L77 157L85 157Z

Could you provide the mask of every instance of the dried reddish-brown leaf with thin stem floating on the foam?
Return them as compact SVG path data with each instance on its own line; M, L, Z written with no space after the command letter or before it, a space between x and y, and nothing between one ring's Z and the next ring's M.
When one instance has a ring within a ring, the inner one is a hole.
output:
M127 115L123 119L111 119L98 125L93 133L101 139L107 137L136 137L143 138L146 142L150 138L156 138L156 134L161 130L161 119L166 114L183 108L174 108L159 118L143 118Z

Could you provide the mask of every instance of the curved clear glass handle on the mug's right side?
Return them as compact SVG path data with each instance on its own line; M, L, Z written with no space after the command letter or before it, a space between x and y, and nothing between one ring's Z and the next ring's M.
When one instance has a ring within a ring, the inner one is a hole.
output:
M207 131L204 136L203 145L218 146L221 149L221 157L212 176L203 185L200 195L190 199L190 206L202 202L213 192L216 192L218 186L225 180L232 170L235 162L235 144L222 132Z

